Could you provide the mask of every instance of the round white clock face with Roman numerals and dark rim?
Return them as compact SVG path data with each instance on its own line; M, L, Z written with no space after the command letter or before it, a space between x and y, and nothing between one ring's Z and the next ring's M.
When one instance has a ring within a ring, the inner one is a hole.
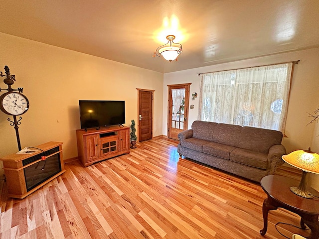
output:
M0 97L0 110L7 115L19 116L29 108L28 99L21 93L8 92Z

